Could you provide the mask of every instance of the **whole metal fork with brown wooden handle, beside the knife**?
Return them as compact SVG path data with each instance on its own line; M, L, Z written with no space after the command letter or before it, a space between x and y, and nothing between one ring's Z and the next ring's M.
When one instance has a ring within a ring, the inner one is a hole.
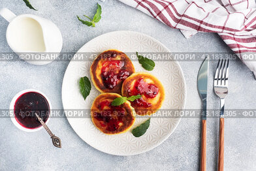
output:
M229 59L219 59L214 76L214 91L221 99L221 111L219 114L219 155L218 171L224 169L224 106L225 97L228 93Z

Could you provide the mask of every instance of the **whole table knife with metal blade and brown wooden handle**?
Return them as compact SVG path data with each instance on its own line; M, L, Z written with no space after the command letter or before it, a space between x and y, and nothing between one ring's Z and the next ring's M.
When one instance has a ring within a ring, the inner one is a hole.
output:
M200 170L206 170L206 109L207 109L207 85L208 85L209 57L204 59L197 75L197 90L202 99L202 127L201 127L201 151Z

